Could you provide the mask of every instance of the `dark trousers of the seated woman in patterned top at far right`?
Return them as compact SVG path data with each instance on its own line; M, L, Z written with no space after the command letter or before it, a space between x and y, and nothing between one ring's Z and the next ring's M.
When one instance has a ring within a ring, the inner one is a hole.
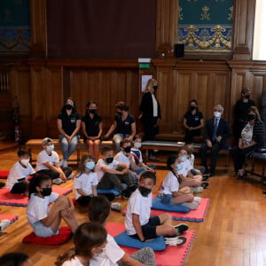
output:
M235 172L238 172L239 169L242 169L249 155L254 153L255 145L247 147L245 149L239 149L238 146L235 146L231 149L231 156L234 162Z

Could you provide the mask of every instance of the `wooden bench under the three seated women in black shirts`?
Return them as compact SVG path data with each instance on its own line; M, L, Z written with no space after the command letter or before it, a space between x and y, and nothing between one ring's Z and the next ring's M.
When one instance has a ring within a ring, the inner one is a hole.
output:
M41 151L43 149L42 147L42 141L43 139L29 139L26 143L27 150L31 153L32 150L39 150ZM61 143L59 142L59 139L52 139L52 143L54 145L55 150L61 150ZM112 140L105 140L100 143L100 148L109 146L112 149L114 148L113 141ZM81 152L88 151L87 145L85 145L83 142L79 142L76 148L76 161L81 160ZM35 161L32 158L32 161Z

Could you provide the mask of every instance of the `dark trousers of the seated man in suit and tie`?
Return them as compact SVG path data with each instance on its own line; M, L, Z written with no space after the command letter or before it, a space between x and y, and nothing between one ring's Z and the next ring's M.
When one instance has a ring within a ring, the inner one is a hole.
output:
M215 173L216 161L218 158L218 153L222 150L222 145L218 142L213 143L212 147L209 148L207 144L203 144L200 148L200 159L201 165L203 165L207 170L207 151L211 151L211 167L210 173Z

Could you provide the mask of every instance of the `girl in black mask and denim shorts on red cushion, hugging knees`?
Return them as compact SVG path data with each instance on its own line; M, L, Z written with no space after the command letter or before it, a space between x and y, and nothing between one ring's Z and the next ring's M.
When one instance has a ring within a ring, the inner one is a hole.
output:
M74 232L78 226L74 217L72 200L51 192L51 177L36 174L29 182L27 220L35 235L48 238L59 234L59 225L63 219ZM54 203L53 203L54 202ZM53 203L50 208L51 203Z

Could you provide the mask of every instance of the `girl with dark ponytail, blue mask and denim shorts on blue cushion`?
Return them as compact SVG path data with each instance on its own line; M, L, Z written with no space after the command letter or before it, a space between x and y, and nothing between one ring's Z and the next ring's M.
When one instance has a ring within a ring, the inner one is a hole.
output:
M179 188L182 179L178 176L177 171L181 167L181 160L177 154L168 156L167 167L168 175L163 180L160 196L163 204L182 204L185 207L195 209L199 206L200 198L194 197L191 189L188 186Z

